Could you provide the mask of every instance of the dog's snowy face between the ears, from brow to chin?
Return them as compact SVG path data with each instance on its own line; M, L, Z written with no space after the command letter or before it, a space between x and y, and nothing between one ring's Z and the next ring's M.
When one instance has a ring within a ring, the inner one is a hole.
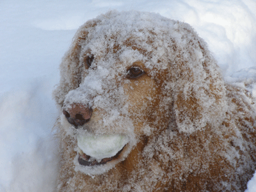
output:
M157 79L161 70L147 67L141 47L125 45L127 39L119 43L122 47L111 46L116 41L104 39L105 47L97 45L98 39L86 42L80 56L81 83L63 102L61 123L73 131L77 168L84 173L106 172L129 156L138 141L169 122L164 81Z

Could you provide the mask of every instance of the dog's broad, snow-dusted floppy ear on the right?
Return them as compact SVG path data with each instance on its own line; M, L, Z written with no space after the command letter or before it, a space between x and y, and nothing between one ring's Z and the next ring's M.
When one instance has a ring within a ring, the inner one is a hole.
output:
M225 86L216 61L202 38L188 24L179 24L182 40L173 40L173 113L177 128L194 132L218 126L225 115Z

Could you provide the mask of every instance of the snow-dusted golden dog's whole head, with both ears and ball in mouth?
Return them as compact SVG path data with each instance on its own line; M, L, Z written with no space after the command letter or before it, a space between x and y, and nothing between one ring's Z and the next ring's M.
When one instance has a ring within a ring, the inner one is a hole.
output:
M223 81L204 40L154 13L89 20L60 69L54 97L84 173L106 172L164 129L191 134L216 126L225 111Z

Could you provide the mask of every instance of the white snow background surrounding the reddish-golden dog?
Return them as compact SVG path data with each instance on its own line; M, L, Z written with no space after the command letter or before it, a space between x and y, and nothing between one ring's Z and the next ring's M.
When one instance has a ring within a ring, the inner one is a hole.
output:
M113 9L188 22L209 44L225 81L256 81L255 0L1 0L0 192L54 191L58 114L51 92L58 66L76 29ZM256 84L251 91L256 97ZM255 191L256 174L247 192Z

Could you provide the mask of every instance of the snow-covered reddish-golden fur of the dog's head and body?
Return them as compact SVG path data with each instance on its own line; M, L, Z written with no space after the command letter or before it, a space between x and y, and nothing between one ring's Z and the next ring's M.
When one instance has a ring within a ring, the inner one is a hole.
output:
M108 12L78 29L60 72L57 191L246 189L256 169L255 100L224 83L189 24ZM80 107L90 120L71 125L67 114ZM111 161L84 166L77 136L87 134L128 143Z

